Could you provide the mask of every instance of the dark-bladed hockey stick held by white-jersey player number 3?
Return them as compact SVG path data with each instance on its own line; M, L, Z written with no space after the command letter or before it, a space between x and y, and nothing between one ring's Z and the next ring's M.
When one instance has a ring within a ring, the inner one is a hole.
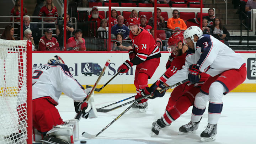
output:
M178 82L177 84L171 85L171 86L169 86L169 87L165 87L164 89L160 90L160 92L166 91L166 90L170 89L171 87L174 87L174 86L183 84L183 83L185 83L185 82L187 82L187 81L188 81L188 79L183 80L183 81L181 81L181 82ZM150 94L150 95L151 95L151 94ZM142 99L144 99L144 98L149 97L150 95L146 95L146 96L140 97L140 98L138 98L138 99L136 99L136 100L129 101L129 102L127 102L127 103L124 103L124 104L122 104L122 105L119 105L119 106L116 106L116 107L113 107L113 108L110 108L110 109L98 108L98 109L97 109L97 112L110 112L110 111L116 110L117 108L120 108L120 107L123 107L123 106L125 106L125 105L128 105L128 104L130 104L130 103L140 101L140 100L142 100ZM112 104L111 104L111 105L112 105Z

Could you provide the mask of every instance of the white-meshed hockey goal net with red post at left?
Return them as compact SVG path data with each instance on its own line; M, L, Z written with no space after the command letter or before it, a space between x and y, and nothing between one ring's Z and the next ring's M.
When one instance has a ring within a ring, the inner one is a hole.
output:
M0 144L26 144L29 135L32 137L32 109L28 104L32 97L27 89L27 80L32 77L27 74L28 69L32 71L27 68L32 66L27 57L32 56L28 49L32 49L31 42L0 39Z

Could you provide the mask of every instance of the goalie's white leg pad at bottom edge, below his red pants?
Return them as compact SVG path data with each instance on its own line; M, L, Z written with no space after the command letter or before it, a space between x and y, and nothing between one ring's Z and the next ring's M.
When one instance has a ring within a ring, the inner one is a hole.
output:
M73 128L68 126L58 125L47 132L46 136L54 136L57 139L62 139L69 144L74 144ZM63 143L65 144L65 143Z

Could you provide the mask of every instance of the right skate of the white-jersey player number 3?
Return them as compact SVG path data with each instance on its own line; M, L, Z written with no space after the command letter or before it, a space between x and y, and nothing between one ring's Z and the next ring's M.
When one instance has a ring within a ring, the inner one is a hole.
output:
M217 134L217 124L209 124L206 126L206 129L201 133L201 141L209 142L215 140Z

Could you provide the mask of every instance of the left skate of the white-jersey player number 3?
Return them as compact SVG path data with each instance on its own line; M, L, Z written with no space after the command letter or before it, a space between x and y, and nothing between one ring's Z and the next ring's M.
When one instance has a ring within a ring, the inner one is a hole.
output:
M200 122L200 121L199 121ZM178 134L185 135L188 133L195 133L198 129L199 122L192 122L190 121L188 124L185 124L179 128Z

